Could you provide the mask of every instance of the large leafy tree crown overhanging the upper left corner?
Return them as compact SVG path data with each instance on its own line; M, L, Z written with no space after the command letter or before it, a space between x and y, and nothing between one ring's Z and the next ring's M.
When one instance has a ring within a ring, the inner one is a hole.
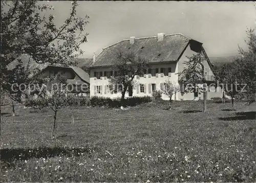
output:
M70 4L69 15L57 26L54 7L47 3L1 1L1 87L9 87L11 75L7 65L23 54L37 63L76 64L73 60L83 53L80 45L87 42L84 28L89 17L77 17L78 2ZM16 72L23 72L22 67L18 68Z

